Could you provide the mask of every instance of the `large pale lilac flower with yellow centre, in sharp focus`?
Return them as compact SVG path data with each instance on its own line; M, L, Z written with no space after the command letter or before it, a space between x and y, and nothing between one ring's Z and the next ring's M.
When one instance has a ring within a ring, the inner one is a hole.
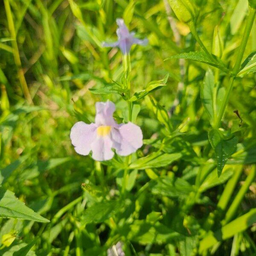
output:
M114 156L112 148L120 156L127 156L143 145L140 127L132 122L117 124L113 119L115 110L113 102L96 102L95 123L80 121L73 125L70 139L78 154L86 156L92 151L94 160L104 161Z

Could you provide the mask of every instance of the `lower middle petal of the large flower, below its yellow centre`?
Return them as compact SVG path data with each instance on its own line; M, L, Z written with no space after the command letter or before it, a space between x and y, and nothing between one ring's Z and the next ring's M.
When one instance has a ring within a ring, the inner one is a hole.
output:
M113 158L112 145L113 143L109 136L97 137L92 143L93 159L96 161L106 161Z

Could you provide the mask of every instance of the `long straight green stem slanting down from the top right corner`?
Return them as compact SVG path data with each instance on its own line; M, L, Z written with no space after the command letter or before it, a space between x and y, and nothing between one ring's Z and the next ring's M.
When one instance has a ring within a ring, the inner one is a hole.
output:
M247 41L248 41L248 38L249 38L249 35L250 35L250 31L251 31L252 26L253 26L253 21L254 21L254 18L255 18L255 14L256 14L255 9L250 10L250 14L248 16L247 23L246 23L246 26L245 26L245 29L244 29L242 42L241 42L240 47L238 49L236 63L235 63L235 65L233 67L233 70L232 70L232 74L234 76L230 77L228 87L227 87L227 92L224 96L224 101L222 102L217 122L215 123L215 128L219 128L220 125L221 125L221 119L224 115L230 93L233 89L233 82L236 78L236 74L239 72L239 69L240 69L241 61L242 61L242 58L243 58L243 55L244 55L244 50L245 50L245 47L246 47L246 44L247 44Z

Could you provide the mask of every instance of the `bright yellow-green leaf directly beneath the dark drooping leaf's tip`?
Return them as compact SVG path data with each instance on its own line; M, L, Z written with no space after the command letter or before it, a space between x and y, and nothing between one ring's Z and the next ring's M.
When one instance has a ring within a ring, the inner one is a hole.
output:
M232 175L233 175L233 169L232 168L228 168L226 169L221 176L219 177L216 170L214 169L204 180L204 182L201 184L199 190L201 192L206 191L207 189L210 189L214 186L218 186L224 182L226 182L226 180L228 180Z

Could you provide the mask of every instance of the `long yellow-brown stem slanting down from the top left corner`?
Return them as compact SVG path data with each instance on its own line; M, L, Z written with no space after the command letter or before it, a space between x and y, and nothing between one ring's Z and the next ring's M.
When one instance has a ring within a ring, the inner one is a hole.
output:
M21 66L20 54L19 54L19 49L18 49L18 45L17 45L17 41L16 41L15 26L14 26L14 22L12 19L12 11L10 8L9 0L4 0L4 6L6 9L6 17L7 17L7 22L8 22L8 26L9 26L9 32L13 39L12 40L13 56L14 56L15 64L17 66L17 70L18 70L17 73L18 73L18 78L20 80L21 89L23 91L26 101L29 104L32 104L33 103L32 98L30 96L29 89L28 89L28 86L26 83L26 79L25 79L25 76L23 73L22 66Z

